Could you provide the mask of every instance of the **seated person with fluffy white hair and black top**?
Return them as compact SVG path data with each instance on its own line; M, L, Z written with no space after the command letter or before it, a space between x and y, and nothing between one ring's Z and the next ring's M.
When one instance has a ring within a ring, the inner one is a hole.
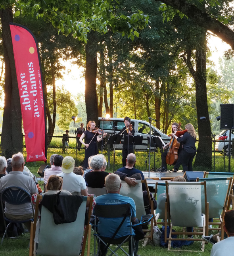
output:
M90 159L89 166L93 169L86 173L85 181L87 186L90 188L104 188L105 187L105 177L109 175L105 172L107 162L104 155L96 155Z

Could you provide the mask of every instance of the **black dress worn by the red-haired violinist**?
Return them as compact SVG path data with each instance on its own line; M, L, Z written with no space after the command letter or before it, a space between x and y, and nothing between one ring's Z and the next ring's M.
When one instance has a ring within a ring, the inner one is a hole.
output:
M97 146L97 133L91 133L90 131L84 131L85 137L86 137L86 144L89 144L90 141L92 140L92 142L90 143L90 145L88 146L88 148L86 149L85 147L85 154L84 154L84 167L87 168L88 167L88 158L90 156L95 156L98 154L98 146Z

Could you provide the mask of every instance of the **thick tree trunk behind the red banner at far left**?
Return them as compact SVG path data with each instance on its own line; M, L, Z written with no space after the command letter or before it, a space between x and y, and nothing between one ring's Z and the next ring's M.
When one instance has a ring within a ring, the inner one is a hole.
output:
M3 52L5 62L5 104L2 121L1 150L2 155L11 158L22 152L22 115L19 89L15 70L10 22L13 22L12 8L0 10L2 23Z

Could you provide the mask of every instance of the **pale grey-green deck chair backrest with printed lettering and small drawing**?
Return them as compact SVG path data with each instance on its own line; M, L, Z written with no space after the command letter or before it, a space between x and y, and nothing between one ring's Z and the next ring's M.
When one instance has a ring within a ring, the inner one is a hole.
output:
M201 182L166 182L168 184L171 223L179 227L202 227Z

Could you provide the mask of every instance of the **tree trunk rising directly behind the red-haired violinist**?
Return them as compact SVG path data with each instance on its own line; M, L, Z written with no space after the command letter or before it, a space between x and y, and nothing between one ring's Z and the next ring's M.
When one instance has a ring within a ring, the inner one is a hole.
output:
M87 122L92 120L98 124L98 104L96 94L96 79L97 79L97 50L93 42L96 38L96 33L91 31L88 33L88 41L86 44L86 65L85 65L85 106L87 114Z

